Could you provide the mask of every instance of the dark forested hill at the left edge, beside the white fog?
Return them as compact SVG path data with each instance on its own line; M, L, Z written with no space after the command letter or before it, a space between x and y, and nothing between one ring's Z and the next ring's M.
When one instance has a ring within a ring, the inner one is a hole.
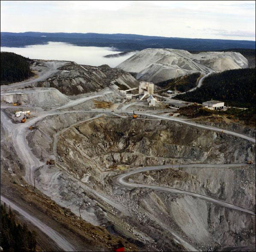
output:
M23 81L33 76L29 65L31 60L13 52L1 52L0 84Z

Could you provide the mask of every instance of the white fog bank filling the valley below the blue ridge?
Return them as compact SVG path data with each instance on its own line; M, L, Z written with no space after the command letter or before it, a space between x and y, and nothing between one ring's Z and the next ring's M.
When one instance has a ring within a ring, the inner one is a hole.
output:
M49 42L47 45L33 45L24 48L0 47L0 50L1 52L15 52L31 59L75 61L77 64L91 66L108 64L110 67L116 67L136 53L130 52L116 58L104 58L105 55L119 52L113 51L109 47L75 46L62 42Z

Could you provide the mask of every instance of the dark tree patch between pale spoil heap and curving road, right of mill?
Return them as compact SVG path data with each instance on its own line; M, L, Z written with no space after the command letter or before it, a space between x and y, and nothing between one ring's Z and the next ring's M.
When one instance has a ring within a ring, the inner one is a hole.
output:
M184 78L178 77L167 81L161 81L157 83L162 89L177 90L180 92L186 92L193 87L196 87L197 80L200 77L200 73L196 72L191 75L187 75Z

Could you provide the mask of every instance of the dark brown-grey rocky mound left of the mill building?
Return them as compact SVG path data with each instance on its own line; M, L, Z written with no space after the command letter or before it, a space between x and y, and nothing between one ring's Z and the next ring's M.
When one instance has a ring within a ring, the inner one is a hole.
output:
M113 84L125 86L127 89L139 85L131 74L123 70L108 65L93 67L71 62L59 68L46 81L38 82L38 87L55 87L65 95L79 95L96 92Z

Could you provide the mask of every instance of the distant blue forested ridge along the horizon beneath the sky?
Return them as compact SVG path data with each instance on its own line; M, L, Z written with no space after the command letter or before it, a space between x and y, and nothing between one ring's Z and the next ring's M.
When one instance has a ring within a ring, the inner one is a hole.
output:
M224 50L230 48L255 49L255 41L167 38L136 34L64 33L64 32L1 32L0 44L6 47L24 47L47 44L49 41L72 43L76 46L113 47L122 52L146 48L172 48L188 51Z

